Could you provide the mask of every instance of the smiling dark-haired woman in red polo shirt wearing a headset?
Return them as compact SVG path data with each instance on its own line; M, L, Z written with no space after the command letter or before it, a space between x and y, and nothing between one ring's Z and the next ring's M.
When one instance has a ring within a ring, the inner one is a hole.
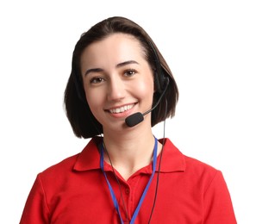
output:
M139 25L111 17L82 34L65 105L74 134L91 141L37 176L21 223L236 223L222 172L153 136L177 102Z

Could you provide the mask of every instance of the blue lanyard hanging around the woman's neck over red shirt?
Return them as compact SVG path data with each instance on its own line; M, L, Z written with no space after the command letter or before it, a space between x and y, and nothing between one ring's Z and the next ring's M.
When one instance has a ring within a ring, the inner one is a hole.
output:
M158 149L158 140L154 137L154 147L153 147L153 171L152 171L151 177L150 177L150 179L149 179L149 181L148 181L148 183L147 183L147 186L146 186L145 190L143 191L142 196L140 197L140 202L139 202L137 208L136 208L135 211L134 211L134 215L133 215L133 217L132 217L132 220L130 221L130 224L134 224L134 221L135 221L135 219L136 219L136 217L137 217L137 215L138 215L138 213L139 213L139 211L140 211L140 207L141 207L141 205L142 205L142 202L144 201L144 198L145 198L145 196L147 195L147 190L149 189L149 186L150 186L150 184L151 184L151 182L152 182L152 180L153 180L153 175L154 175L155 170L156 170L157 149ZM114 202L114 206L115 206L115 208L116 208L116 211L117 211L117 213L118 213L118 215L119 215L119 218L120 218L120 220L121 220L121 223L123 224L122 216L121 216L121 213L120 213L120 209L119 209L119 206L118 206L118 202L117 202L117 200L116 200L115 192L114 192L114 190L112 189L111 184L109 183L109 179L108 179L108 177L107 177L107 175L106 175L106 172L104 171L103 150L104 150L103 144L101 144L101 148L100 148L100 152L101 152L101 159L100 159L101 169L102 169L102 171L103 171L104 177L105 177L105 179L106 179L106 181L107 181L107 184L108 184L108 186L109 186L109 191L110 191L110 195L111 195L111 197L112 197L112 201Z

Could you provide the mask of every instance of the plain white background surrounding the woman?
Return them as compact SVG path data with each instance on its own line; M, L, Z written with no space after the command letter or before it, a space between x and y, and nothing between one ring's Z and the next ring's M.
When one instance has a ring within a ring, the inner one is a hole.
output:
M63 92L80 34L109 16L152 36L180 91L165 135L221 170L238 223L256 223L255 11L253 0L1 1L0 223L18 223L36 174L87 143ZM153 129L161 138L163 124Z

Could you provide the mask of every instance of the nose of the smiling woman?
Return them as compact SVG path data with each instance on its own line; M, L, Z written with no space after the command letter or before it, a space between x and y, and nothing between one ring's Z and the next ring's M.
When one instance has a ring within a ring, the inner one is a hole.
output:
M108 100L120 101L125 96L125 86L121 78L109 80Z

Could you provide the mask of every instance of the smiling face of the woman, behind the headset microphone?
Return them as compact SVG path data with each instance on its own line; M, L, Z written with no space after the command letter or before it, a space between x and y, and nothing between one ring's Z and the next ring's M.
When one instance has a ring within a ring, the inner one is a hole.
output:
M153 72L134 36L111 34L86 47L81 72L87 102L103 132L123 130L128 115L152 108ZM151 127L150 115L142 123Z

